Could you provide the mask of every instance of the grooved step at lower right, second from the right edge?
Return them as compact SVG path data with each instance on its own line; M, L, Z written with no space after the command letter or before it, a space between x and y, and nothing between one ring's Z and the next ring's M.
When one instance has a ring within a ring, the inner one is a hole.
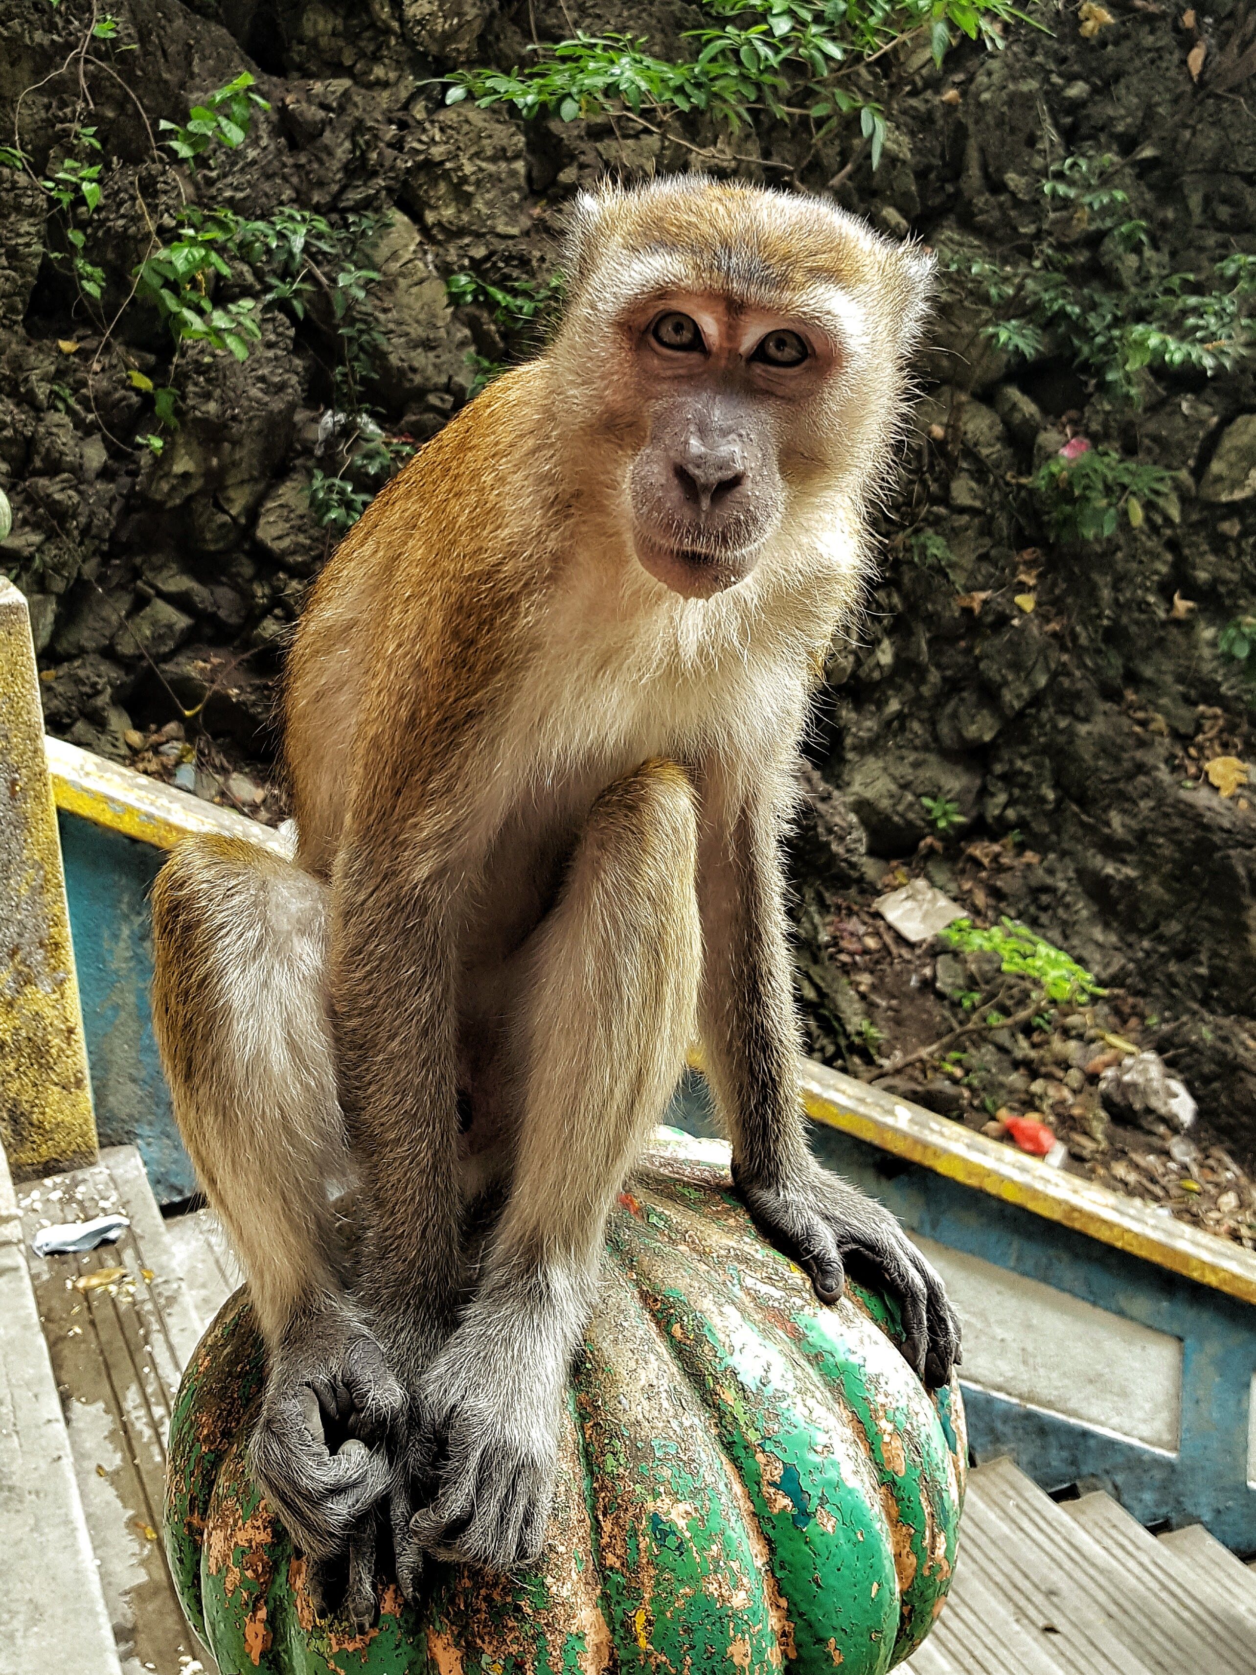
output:
M1159 1626L1177 1635L1177 1643L1194 1645L1196 1658L1211 1675L1253 1675L1256 1642L1246 1613L1233 1601L1224 1571L1212 1568L1204 1586L1179 1563L1171 1548L1130 1518L1109 1494L1084 1494L1062 1511L1087 1529L1129 1580L1122 1606L1142 1615L1150 1593L1159 1610ZM1182 1668L1187 1668L1182 1663Z

